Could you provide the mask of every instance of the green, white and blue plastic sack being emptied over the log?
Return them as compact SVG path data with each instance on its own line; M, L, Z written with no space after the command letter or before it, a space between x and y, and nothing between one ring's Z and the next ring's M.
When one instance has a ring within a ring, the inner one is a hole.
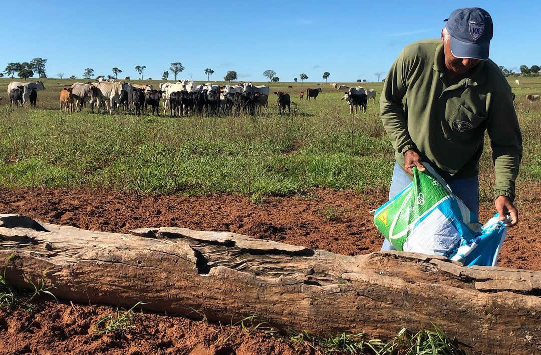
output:
M453 195L447 183L413 168L413 181L374 213L374 225L398 251L460 261L466 266L496 266L507 233L496 214L485 225Z

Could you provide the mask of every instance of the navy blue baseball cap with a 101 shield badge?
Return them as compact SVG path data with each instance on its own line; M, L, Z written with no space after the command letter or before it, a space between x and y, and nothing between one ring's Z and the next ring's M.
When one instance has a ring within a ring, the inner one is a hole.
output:
M492 40L492 18L481 8L462 8L451 12L447 32L451 36L451 53L457 58L489 59Z

